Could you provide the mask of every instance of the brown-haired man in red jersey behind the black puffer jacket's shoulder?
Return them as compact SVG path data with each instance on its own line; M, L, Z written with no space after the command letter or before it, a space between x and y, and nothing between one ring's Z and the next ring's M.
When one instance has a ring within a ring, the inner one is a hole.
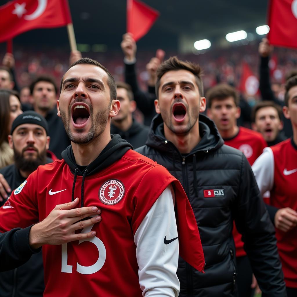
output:
M251 129L238 127L236 120L240 116L239 97L236 90L227 84L219 84L209 89L207 94L207 115L215 122L225 144L239 149L252 165L267 146L262 135ZM243 249L241 234L233 228L236 247L236 262L238 266L239 296L251 295L252 268Z

